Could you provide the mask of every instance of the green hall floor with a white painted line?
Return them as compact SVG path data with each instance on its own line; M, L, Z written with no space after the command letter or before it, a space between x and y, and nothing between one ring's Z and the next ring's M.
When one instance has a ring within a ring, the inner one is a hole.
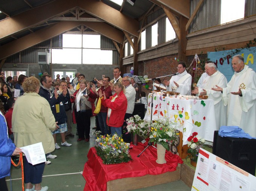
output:
M95 125L95 118L91 118L91 128ZM73 125L72 133L76 134L76 125ZM91 129L91 133L94 132ZM90 134L91 134L90 133ZM56 154L57 158L50 159L52 162L50 165L45 165L42 186L48 186L49 191L82 191L84 190L85 179L82 176L84 164L87 161L88 150L94 146L94 136L90 135L90 142L84 141L76 142L75 138L69 138L68 143L71 143L70 147L61 147L58 150L52 152ZM60 136L57 135L57 141L60 143ZM22 190L21 182L21 168L11 167L11 178L6 177L6 182L9 191L11 187L13 191ZM12 184L12 186L11 186ZM171 191L190 191L191 189L182 181L171 182L167 184L161 184L153 187L147 187L137 189L136 191L159 191L159 190L171 190ZM122 190L120 188L120 190Z

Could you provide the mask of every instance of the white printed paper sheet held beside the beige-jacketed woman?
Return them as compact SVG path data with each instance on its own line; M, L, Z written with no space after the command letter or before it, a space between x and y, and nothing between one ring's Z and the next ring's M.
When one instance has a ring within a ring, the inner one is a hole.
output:
M46 161L42 142L21 147L20 149L22 150L22 153L25 154L27 161L32 165Z

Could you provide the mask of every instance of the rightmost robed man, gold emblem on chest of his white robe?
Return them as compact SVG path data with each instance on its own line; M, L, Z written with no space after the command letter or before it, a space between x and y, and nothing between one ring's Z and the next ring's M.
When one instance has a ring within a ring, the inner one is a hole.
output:
M256 73L244 64L244 58L236 55L232 59L235 71L226 88L216 85L222 91L225 106L228 106L227 126L239 126L252 137L256 137Z

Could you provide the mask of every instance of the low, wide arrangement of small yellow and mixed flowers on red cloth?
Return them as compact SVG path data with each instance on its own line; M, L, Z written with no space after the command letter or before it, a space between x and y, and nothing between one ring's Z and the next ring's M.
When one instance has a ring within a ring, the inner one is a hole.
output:
M129 162L132 159L129 154L129 147L117 134L112 137L97 134L95 149L106 165Z

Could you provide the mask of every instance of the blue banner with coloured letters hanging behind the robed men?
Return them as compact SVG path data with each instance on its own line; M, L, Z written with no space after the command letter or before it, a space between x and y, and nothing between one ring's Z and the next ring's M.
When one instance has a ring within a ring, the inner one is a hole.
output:
M214 62L217 70L223 73L229 82L235 72L231 63L232 56L237 54L243 56L244 63L256 71L256 47L208 52L208 59Z

